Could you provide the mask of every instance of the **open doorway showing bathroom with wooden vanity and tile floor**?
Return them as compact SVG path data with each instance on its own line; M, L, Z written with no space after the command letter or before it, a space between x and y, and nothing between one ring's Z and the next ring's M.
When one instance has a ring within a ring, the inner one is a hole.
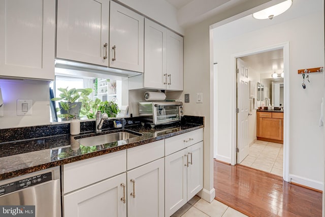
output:
M281 177L285 75L283 66L283 48L236 58L236 163Z

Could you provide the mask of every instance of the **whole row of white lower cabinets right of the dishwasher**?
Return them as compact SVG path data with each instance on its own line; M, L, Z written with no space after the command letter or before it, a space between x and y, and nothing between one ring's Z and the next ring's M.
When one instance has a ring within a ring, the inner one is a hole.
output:
M63 165L62 179L64 217L171 216L203 189L203 129Z

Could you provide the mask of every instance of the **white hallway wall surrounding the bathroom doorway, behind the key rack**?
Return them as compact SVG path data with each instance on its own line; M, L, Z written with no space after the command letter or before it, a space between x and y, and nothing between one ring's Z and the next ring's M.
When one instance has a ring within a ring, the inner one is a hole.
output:
M322 1L311 2L297 0L295 4L303 3L305 9L310 9L301 13L301 17L291 19L282 23L262 27L257 30L247 31L242 35L233 38L223 38L222 41L215 40L215 53L218 61L217 85L219 89L218 98L223 102L223 107L219 106L219 125L223 131L218 132L218 150L226 157L230 157L230 117L231 111L226 109L230 106L230 67L231 55L236 53L269 47L280 43L289 42L290 72L285 72L290 80L290 110L284 109L290 118L289 129L289 177L292 181L312 188L319 188L323 182L323 131L318 127L319 105L323 97L324 82L322 73L311 74L311 83L307 88L301 86L302 76L297 74L297 70L305 68L324 66L324 28ZM247 18L246 18L247 19ZM275 19L275 18L274 18ZM234 28L236 22L229 25ZM256 22L256 21L254 21ZM239 22L238 22L239 23ZM237 23L237 25L238 25ZM241 22L241 28L244 22ZM250 23L247 24L250 28ZM222 27L226 30L226 26ZM214 31L214 36L222 34L218 28ZM217 38L217 37L216 37ZM227 155L228 154L228 155Z

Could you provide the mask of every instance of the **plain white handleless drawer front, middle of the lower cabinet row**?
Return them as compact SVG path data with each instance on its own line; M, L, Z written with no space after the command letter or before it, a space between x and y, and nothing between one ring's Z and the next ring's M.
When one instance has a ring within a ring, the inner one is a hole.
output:
M127 149L127 170L164 157L164 140Z

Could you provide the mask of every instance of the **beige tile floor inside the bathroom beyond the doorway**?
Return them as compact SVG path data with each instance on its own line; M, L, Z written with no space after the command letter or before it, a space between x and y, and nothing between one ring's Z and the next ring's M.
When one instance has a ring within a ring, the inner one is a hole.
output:
M256 140L240 164L283 176L283 144Z

